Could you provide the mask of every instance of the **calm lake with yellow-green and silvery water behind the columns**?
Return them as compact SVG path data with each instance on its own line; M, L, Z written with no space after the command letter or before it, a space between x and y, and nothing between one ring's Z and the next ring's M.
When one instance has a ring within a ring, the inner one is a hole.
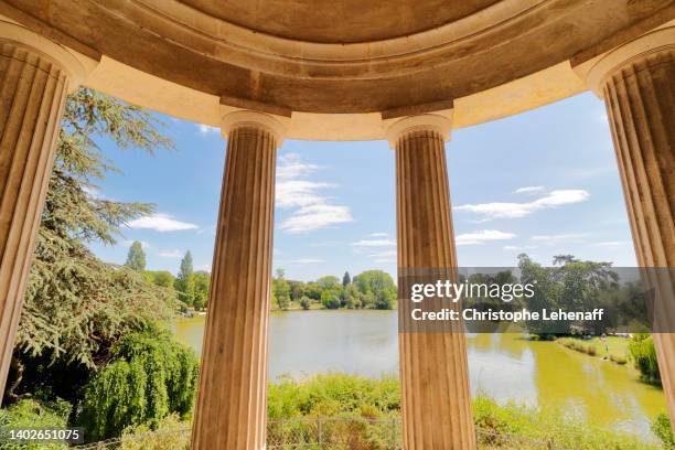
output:
M175 335L197 353L205 318L179 319ZM269 376L301 378L340 371L398 373L396 311L274 312ZM468 335L471 388L500 401L564 408L602 426L653 439L651 419L666 410L663 390L643 384L630 365L527 341L519 334Z

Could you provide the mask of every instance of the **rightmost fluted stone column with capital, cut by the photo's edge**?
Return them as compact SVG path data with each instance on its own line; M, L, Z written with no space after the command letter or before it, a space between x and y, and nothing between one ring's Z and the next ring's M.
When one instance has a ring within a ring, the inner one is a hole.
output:
M606 101L638 261L671 268L649 274L658 330L675 331L675 26L609 52L587 79ZM675 333L653 336L675 430Z

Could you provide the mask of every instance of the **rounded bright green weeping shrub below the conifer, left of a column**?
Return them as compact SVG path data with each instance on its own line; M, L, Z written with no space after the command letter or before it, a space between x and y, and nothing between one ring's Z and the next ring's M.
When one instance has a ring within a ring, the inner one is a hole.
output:
M165 330L130 333L111 355L114 361L86 386L79 421L88 439L117 437L143 424L156 428L170 413L185 417L192 410L197 358Z

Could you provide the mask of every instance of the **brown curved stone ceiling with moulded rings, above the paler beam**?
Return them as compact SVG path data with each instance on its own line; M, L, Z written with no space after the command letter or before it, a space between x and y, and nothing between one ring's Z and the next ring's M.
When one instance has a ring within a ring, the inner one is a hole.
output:
M0 14L224 105L394 117L589 60L675 19L675 0L0 0Z

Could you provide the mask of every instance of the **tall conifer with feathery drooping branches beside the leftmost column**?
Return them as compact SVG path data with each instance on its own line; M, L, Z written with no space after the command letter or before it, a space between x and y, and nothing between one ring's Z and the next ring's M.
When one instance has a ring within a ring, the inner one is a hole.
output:
M97 194L96 182L118 171L98 142L150 153L171 148L160 126L151 113L90 89L68 98L6 399L45 384L69 389L56 393L62 397L76 395L76 378L105 363L119 336L169 317L169 290L131 269L103 262L86 247L94 242L114 245L125 224L153 210ZM60 377L68 383L58 383Z

